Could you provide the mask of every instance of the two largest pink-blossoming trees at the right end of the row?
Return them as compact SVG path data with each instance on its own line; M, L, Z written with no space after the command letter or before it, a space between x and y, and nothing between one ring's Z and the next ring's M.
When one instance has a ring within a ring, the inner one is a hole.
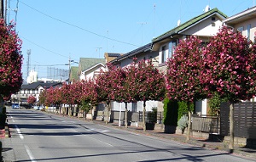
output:
M180 42L167 61L168 98L188 104L217 94L230 102L230 151L234 148L234 103L253 98L256 81L256 45L241 32L223 27L207 47L191 36ZM189 110L190 130L191 111ZM189 140L189 131L187 139Z

